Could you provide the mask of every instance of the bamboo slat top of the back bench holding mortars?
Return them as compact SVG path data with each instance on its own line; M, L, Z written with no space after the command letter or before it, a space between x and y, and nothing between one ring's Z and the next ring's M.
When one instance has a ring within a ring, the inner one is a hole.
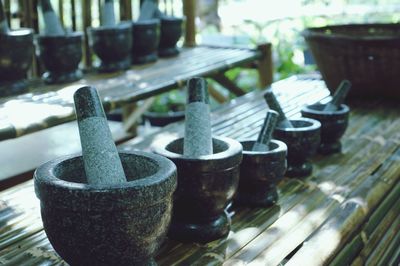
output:
M105 109L112 110L173 89L191 77L223 72L259 57L256 50L197 46L183 48L177 57L127 71L91 72L70 84L44 85L32 80L29 92L0 99L0 141L74 120L72 96L82 85L97 88Z

